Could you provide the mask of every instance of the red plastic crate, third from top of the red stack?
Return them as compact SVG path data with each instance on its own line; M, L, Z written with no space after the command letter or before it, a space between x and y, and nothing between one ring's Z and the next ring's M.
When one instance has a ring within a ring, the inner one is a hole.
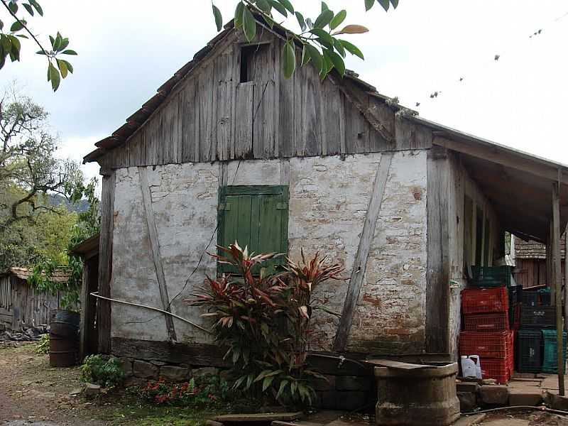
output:
M461 332L459 354L479 355L481 359L506 359L513 354L510 331L507 332Z

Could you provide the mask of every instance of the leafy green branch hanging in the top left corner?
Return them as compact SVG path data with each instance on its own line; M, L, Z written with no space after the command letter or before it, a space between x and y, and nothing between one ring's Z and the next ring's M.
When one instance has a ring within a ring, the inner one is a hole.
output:
M24 17L25 13L18 6L20 4L26 10L28 16L34 17L36 14L43 16L43 9L37 0L28 0L28 3L18 2L17 0L0 0L0 4L8 14L9 20L12 21L9 31L4 31L4 21L0 16L0 70L6 65L6 58L10 58L12 62L20 60L21 43L19 39L31 38L33 43L40 48L37 52L38 55L45 56L48 61L48 82L51 83L55 92L59 88L61 79L65 79L69 73L73 72L71 63L59 58L59 55L77 55L75 50L68 48L69 39L64 38L58 32L55 36L49 36L51 48L46 48L40 42L28 26L28 21Z

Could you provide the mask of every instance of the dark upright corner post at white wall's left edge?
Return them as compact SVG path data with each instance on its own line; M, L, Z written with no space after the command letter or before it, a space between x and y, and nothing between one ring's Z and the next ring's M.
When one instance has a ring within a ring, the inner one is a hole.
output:
M115 174L102 178L101 236L99 240L99 294L111 297L112 237L114 232L114 187ZM99 329L99 352L111 351L111 303L99 300L97 325Z

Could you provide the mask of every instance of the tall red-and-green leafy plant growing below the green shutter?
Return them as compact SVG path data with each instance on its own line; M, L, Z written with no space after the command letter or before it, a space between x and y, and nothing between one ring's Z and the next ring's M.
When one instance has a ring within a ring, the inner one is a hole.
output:
M281 403L311 403L308 379L322 376L306 368L307 332L312 310L325 310L310 305L311 295L325 280L341 279L342 266L327 266L318 254L306 261L302 251L300 263L287 259L283 273L267 275L263 263L281 255L249 253L236 242L219 251L224 255L211 256L239 273L208 277L209 288L190 303L214 319L216 339L229 348L226 357L238 376L234 388L270 389Z

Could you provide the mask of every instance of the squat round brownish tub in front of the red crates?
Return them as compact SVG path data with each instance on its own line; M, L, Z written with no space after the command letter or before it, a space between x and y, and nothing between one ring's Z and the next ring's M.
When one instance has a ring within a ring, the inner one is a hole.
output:
M375 367L377 425L449 426L459 418L457 364L424 367Z

